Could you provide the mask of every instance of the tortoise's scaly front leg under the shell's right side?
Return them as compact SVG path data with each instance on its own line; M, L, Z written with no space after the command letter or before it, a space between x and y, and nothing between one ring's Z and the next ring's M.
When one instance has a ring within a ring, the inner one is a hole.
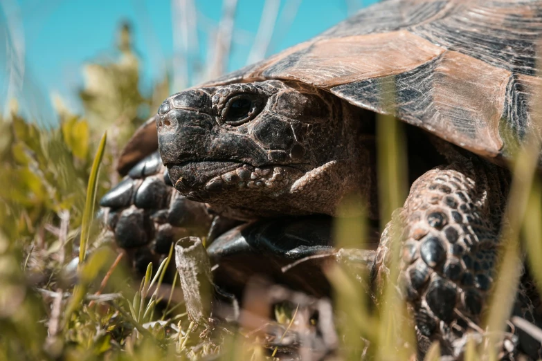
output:
M399 286L419 338L450 346L468 328L465 318L480 322L494 281L507 192L502 172L478 160L432 169L413 183L404 207L386 226L377 281L381 285L389 275L391 234L400 234ZM391 232L394 227L402 229Z

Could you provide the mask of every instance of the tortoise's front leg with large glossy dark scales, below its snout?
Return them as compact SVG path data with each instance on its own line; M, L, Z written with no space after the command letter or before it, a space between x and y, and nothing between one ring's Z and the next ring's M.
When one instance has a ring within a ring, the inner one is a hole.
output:
M212 221L205 205L181 196L165 172L155 151L100 200L107 230L141 275L150 262L156 270L178 239L205 236ZM174 263L170 268L172 276Z

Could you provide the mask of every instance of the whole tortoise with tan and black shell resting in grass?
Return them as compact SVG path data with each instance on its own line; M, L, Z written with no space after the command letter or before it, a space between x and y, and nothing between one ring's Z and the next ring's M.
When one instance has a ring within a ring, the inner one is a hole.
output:
M109 228L145 262L210 228L211 258L246 272L332 249L330 217L352 194L379 227L375 127L392 113L406 128L410 192L367 263L386 281L399 228L420 347L439 340L451 352L494 281L514 147L540 136L541 34L542 1L388 0L171 95L118 161L125 178L100 203ZM522 280L514 312L542 324Z

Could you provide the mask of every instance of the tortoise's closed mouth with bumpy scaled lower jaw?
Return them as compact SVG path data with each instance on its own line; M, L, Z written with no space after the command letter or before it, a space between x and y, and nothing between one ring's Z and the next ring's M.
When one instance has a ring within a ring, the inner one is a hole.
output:
M226 190L273 192L305 172L292 165L262 165L222 160L187 161L167 165L174 187L194 201L209 201Z

